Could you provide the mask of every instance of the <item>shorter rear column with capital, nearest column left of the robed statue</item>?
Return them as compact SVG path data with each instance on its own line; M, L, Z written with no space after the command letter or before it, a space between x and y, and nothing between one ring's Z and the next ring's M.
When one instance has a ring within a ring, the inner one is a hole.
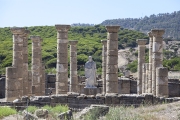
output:
M77 78L77 40L69 41L70 44L70 92L78 92Z

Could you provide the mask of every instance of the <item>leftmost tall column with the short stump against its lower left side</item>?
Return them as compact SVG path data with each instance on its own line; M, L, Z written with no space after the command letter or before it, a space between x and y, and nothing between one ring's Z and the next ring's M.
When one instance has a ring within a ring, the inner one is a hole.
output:
M23 95L23 39L25 28L13 27L13 62L6 68L6 101Z

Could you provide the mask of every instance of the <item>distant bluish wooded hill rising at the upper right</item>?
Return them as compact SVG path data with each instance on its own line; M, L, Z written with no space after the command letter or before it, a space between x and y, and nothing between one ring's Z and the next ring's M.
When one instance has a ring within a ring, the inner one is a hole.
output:
M144 18L125 18L105 20L101 25L120 25L123 28L138 30L147 33L153 28L165 29L164 37L173 37L180 40L180 11L160 13L145 16Z

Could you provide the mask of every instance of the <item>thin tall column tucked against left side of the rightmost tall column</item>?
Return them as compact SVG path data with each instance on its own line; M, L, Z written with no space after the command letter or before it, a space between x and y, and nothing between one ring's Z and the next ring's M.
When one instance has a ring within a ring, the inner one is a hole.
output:
M148 32L149 35L149 79L148 79L148 93L152 93L152 44L153 36L151 32Z

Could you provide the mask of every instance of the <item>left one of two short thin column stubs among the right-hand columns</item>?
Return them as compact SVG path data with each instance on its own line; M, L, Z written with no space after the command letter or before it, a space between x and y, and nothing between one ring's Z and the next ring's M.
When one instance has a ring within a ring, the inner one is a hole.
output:
M142 94L146 91L146 63L142 64Z

